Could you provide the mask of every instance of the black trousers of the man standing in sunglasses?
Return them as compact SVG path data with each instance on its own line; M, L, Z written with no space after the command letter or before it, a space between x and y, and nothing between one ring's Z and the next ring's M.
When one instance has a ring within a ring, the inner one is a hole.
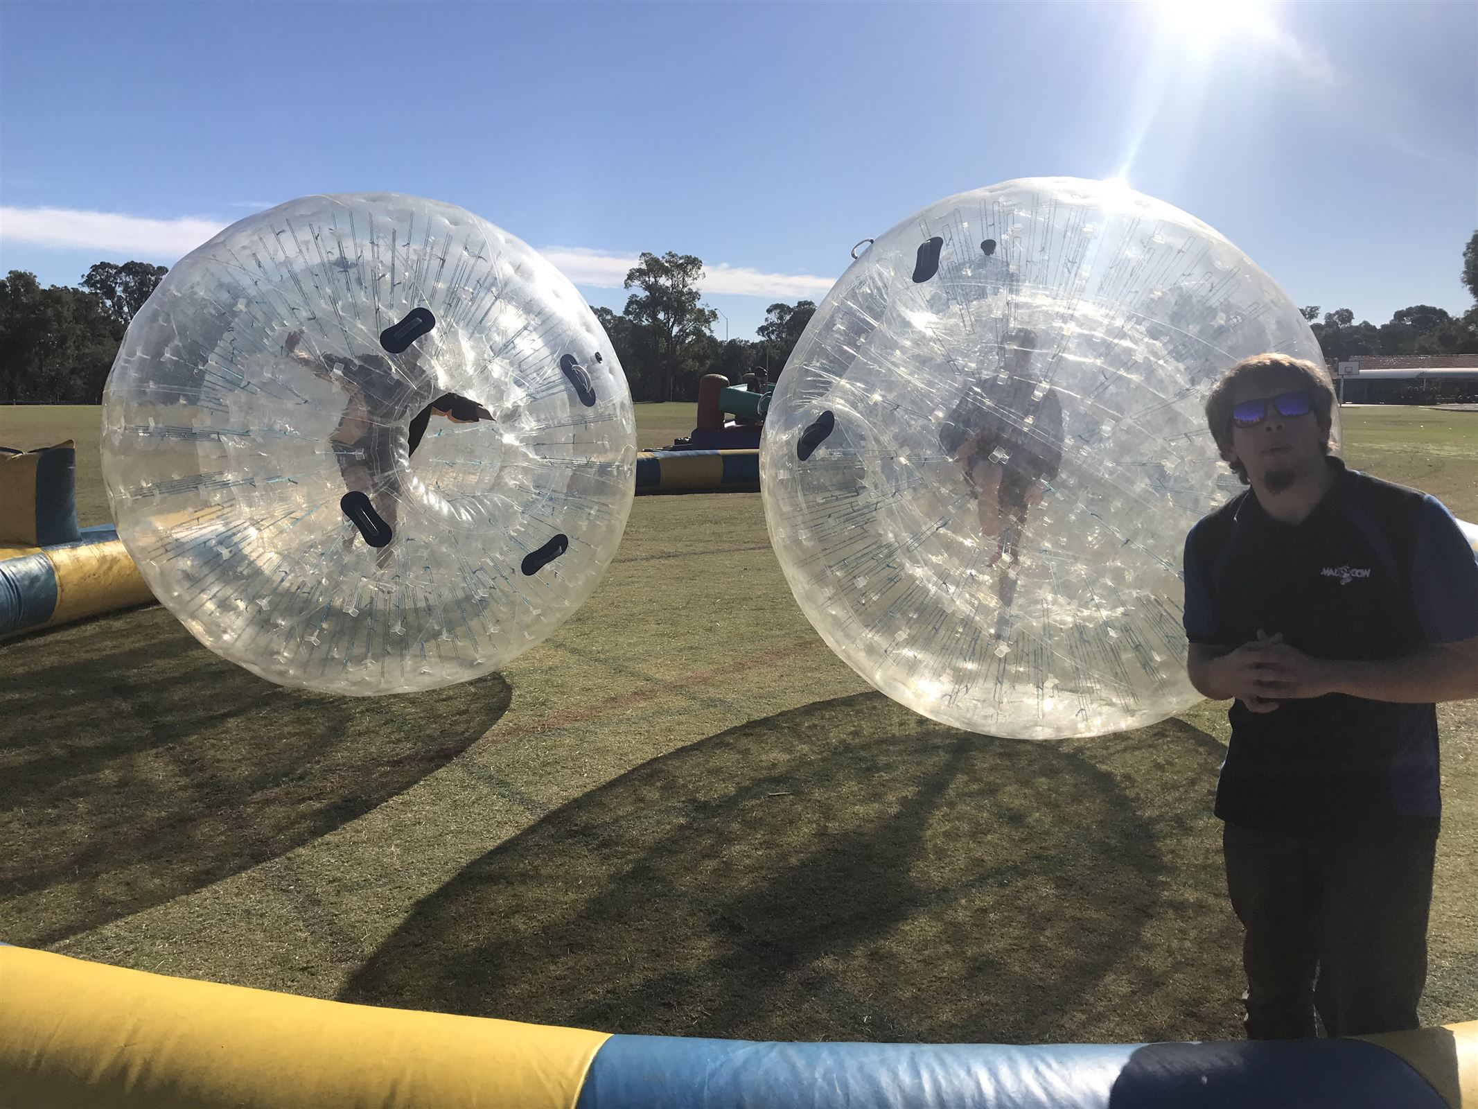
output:
M1432 831L1305 840L1222 830L1227 890L1246 929L1249 1040L1417 1028L1426 983Z

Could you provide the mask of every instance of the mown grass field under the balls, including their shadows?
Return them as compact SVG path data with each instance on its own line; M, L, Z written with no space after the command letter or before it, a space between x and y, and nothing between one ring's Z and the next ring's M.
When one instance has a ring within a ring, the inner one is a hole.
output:
M641 447L692 405L638 405ZM1351 464L1478 519L1478 414L1351 408ZM96 408L0 408L0 442ZM726 600L726 597L729 597ZM501 674L343 701L163 609L0 648L0 939L622 1032L1239 1034L1210 816L1225 705L1088 741L933 725L820 642L758 495L638 498L591 600ZM1444 705L1422 1016L1478 1017L1478 702Z

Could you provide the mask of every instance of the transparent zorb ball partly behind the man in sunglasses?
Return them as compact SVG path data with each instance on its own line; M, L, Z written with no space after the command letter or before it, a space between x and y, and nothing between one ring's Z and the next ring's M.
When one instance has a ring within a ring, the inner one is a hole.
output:
M1098 735L1187 708L1181 550L1242 488L1203 401L1268 350L1323 365L1273 279L1169 204L1055 177L924 208L841 277L770 404L795 599L947 725Z

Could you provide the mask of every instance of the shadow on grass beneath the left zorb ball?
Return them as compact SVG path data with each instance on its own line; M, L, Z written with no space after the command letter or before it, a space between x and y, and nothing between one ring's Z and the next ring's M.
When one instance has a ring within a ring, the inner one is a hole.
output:
M284 689L151 608L0 652L0 939L44 945L278 856L460 754L489 676L427 693Z

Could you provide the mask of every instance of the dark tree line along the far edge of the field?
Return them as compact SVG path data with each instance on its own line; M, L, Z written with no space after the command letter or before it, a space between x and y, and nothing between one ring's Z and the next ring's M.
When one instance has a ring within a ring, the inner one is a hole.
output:
M77 287L43 288L34 274L0 279L0 404L99 404L118 345L166 274L145 262L99 262ZM704 263L692 254L643 253L627 272L621 313L593 308L621 359L636 401L693 401L704 374L738 381L755 368L774 380L816 312L810 300L774 303L757 339L720 340L718 313L702 303ZM1302 309L1324 358L1478 353L1478 232L1463 248L1463 285L1474 306L1454 316L1411 305L1386 324L1355 322L1348 308Z

